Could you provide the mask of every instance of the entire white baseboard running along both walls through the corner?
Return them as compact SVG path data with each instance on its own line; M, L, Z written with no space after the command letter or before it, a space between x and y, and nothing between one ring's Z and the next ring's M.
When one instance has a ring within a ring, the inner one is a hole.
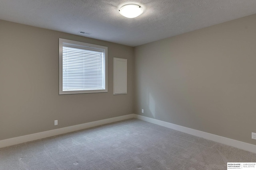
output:
M143 121L154 123L156 125L160 125L160 126L164 126L164 127L170 128L170 129L174 129L174 130L177 130L177 131L188 133L190 135L202 137L204 139L208 139L208 140L211 140L211 141L215 141L215 142L218 142L218 143L222 143L222 144L225 144L225 145L229 145L229 146L232 146L232 147L236 147L236 148L239 148L239 149L243 149L243 150L247 150L247 151L256 153L256 145L252 145L252 144L249 144L249 143L244 143L244 142L241 142L241 141L236 141L234 139L229 139L229 138L226 138L226 137L213 135L211 133L206 133L206 132L203 132L203 131L190 129L188 127L183 127L183 126L180 126L180 125L175 125L173 123L168 123L168 122L165 122L165 121L160 121L160 120L157 120L157 119L152 119L150 117L145 117L145 116L136 115L136 114L113 117L113 118L109 118L109 119L103 119L103 120L99 120L99 121L83 123L83 124L80 124L80 125L63 127L63 128L60 128L60 129L54 129L54 130L44 131L44 132L40 132L40 133L34 133L34 134L31 134L31 135L25 135L25 136L5 139L5 140L0 141L0 148L8 147L8 146L11 146L11 145L16 145L16 144L24 143L24 142L28 142L28 141L34 141L34 140L42 139L42 138L46 138L46 137L51 137L51 136L55 136L55 135L60 135L60 134L64 134L64 133L69 133L69 132L72 132L72 131L78 131L78 130L81 130L81 129L95 127L95 126L98 126L98 125L104 125L104 124L107 124L107 123L112 123L112 122L121 121L121 120L125 120L125 119L131 119L131 118L140 119L140 120L143 120Z

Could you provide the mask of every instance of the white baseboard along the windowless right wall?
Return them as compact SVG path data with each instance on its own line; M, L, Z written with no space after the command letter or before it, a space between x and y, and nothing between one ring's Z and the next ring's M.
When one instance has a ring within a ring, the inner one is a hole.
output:
M142 116L142 115L136 115L135 114L134 118L137 118L137 119L140 119L140 120L143 120L143 121L147 121L147 122L150 122L150 123L154 123L156 125L168 127L170 129L174 129L174 130L181 131L181 132L184 132L184 133L188 133L190 135L202 137L204 139L208 139L208 140L211 140L211 141L214 141L214 142L222 143L222 144L225 144L225 145L229 145L229 146L232 146L232 147L236 147L236 148L239 148L239 149L243 149L243 150L247 150L247 151L256 153L256 145L252 145L250 143L236 141L234 139L229 139L229 138L226 138L226 137L213 135L211 133L206 133L206 132L203 132L203 131L190 129L188 127L175 125L173 123L168 123L168 122L165 122L165 121L152 119L152 118L145 117L145 116Z

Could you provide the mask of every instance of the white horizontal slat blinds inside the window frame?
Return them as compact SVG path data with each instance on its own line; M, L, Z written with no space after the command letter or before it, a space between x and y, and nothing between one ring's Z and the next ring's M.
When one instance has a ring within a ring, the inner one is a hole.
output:
M105 69L104 49L62 44L62 92L106 90Z

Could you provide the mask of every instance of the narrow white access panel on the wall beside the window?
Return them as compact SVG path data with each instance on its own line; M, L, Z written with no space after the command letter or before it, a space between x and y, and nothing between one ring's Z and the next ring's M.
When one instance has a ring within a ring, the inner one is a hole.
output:
M127 59L114 58L114 95L127 94Z

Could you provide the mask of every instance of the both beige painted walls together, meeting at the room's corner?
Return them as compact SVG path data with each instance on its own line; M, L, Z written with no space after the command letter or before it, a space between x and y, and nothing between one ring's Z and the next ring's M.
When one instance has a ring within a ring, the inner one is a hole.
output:
M256 145L255 21L132 48L0 20L0 140L135 110ZM58 95L58 38L108 47L108 93ZM113 95L113 57L128 59L127 95Z

